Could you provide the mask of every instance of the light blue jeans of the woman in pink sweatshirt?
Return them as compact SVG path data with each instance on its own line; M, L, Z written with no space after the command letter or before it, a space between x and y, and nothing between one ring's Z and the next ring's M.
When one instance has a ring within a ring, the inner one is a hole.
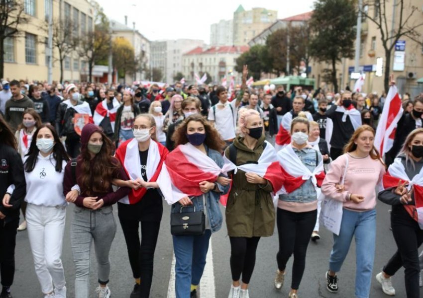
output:
M355 296L368 298L375 258L376 210L354 212L343 209L339 236L333 234L333 247L330 252L329 269L339 272L355 234L356 272Z

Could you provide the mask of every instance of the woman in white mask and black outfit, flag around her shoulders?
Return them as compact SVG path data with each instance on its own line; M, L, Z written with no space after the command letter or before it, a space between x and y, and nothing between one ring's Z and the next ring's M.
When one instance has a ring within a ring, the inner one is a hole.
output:
M169 151L156 141L155 130L153 116L138 115L133 126L135 138L124 142L115 154L131 179L114 181L118 186L132 188L129 195L117 203L119 221L135 279L131 298L148 298L150 295L154 251L163 214L163 200L155 181ZM141 242L138 233L140 225Z

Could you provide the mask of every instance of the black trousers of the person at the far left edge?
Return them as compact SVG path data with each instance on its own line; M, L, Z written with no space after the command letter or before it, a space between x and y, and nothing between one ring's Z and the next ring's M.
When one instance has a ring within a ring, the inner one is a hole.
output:
M13 284L15 272L15 246L16 228L19 225L19 218L4 224L0 220L0 276L1 285L10 287Z

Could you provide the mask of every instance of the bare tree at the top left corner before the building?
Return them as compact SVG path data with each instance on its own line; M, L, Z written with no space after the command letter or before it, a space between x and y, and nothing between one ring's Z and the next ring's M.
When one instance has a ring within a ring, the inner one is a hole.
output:
M18 26L28 21L23 1L0 0L0 77L4 76L4 40L18 36Z

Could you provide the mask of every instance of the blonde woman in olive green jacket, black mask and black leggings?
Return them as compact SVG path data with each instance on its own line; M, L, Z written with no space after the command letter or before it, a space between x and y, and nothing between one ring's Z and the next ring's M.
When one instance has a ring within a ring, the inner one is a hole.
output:
M260 114L251 109L240 110L238 132L240 135L225 150L225 156L228 159L236 159L231 161L237 166L257 162L265 146ZM236 152L236 158L233 152ZM260 237L273 235L275 227L273 187L268 180L242 170L238 170L232 179L226 205L232 273L229 298L248 298L248 284L254 270L258 242ZM239 282L241 274L242 285Z

